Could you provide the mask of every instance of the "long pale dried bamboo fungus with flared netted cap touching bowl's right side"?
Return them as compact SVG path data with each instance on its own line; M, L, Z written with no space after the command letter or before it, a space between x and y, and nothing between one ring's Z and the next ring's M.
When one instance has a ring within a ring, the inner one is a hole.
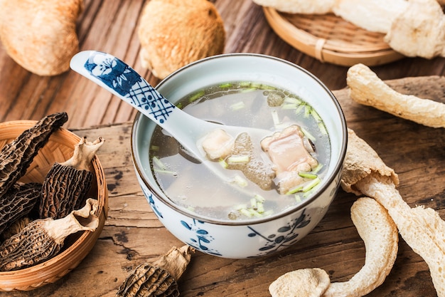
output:
M369 160L375 164L370 166ZM377 169L377 170L376 170ZM437 296L445 296L445 222L434 209L411 208L396 189L397 175L372 147L348 130L348 150L341 177L346 192L365 194L387 209L400 235L429 267Z

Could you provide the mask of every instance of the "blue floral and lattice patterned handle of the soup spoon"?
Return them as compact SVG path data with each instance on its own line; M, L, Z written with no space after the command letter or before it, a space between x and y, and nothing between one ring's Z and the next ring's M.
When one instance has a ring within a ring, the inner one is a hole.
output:
M81 51L70 67L132 105L158 125L163 125L176 106L170 103L133 68L100 51Z

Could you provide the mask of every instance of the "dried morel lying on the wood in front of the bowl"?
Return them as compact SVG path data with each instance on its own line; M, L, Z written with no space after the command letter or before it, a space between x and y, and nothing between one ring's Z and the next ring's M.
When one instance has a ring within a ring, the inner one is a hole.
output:
M178 281L191 260L191 246L173 247L152 264L141 264L127 277L117 297L178 297Z

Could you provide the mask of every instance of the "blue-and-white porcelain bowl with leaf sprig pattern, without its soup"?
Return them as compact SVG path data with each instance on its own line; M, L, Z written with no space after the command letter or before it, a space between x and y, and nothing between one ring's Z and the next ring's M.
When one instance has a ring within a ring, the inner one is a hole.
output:
M265 256L304 238L326 214L340 184L347 144L345 118L331 91L311 73L288 61L258 54L232 53L196 61L169 75L156 89L177 103L184 95L228 81L253 81L289 90L321 115L331 140L331 160L316 194L286 212L252 221L218 222L199 217L171 202L156 183L149 165L149 143L156 124L140 113L132 127L134 167L154 214L185 244L230 259Z

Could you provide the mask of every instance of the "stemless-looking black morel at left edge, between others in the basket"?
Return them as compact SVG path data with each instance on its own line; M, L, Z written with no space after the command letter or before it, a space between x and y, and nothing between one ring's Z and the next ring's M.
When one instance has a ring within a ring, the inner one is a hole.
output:
M25 217L40 201L42 184L14 184L0 201L0 234L17 219Z

